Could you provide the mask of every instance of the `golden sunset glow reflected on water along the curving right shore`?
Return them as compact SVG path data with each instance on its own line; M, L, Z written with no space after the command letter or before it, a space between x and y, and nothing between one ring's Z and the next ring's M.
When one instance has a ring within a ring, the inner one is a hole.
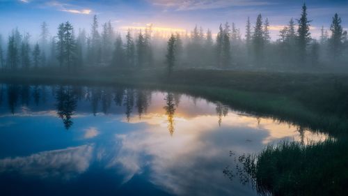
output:
M217 130L233 131L240 128L262 130L267 132L267 137L262 138L264 145L282 139L309 144L328 138L328 135L313 133L290 123L238 113L219 102L207 103L205 100L189 96L182 96L179 100L175 93L154 93L152 100L152 105L149 105L148 111L142 114L141 119L134 114L129 117L130 123L157 125L162 131L166 128L170 135L189 132L200 134L207 130L216 130L216 123L220 127ZM252 142L250 138L245 140Z

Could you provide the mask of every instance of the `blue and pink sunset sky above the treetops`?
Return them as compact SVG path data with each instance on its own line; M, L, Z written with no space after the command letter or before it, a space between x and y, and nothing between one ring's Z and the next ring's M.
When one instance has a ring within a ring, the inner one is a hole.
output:
M75 29L89 31L93 15L97 15L101 23L110 20L121 33L128 27L146 24L183 31L198 25L216 33L220 23L235 22L244 34L247 17L254 24L261 13L269 19L271 36L276 39L290 18L300 17L303 2L308 6L308 18L313 20L313 37L319 36L320 27L329 28L335 13L342 18L342 26L348 28L348 0L0 0L0 33L7 36L18 27L35 38L43 21L49 24L52 34L59 23L66 21L72 22Z

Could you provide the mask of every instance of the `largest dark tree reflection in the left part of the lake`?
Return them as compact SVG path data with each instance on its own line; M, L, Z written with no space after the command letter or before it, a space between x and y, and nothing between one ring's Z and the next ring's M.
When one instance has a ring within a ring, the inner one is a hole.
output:
M56 107L58 116L63 120L64 127L68 130L72 126L72 115L77 107L77 98L71 86L58 86Z

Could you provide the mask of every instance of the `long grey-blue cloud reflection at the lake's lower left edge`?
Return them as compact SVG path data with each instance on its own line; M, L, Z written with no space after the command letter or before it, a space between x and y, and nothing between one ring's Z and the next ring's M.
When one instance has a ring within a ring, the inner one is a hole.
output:
M0 160L0 172L70 179L88 169L92 153L93 146L84 145L26 157L4 158Z

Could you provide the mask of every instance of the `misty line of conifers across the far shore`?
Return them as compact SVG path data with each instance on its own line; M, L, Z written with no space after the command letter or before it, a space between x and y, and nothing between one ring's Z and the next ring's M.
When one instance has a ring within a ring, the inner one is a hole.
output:
M122 38L111 22L102 24L93 17L90 33L76 33L70 22L59 24L57 33L49 33L48 24L41 25L40 38L31 43L29 33L18 29L8 36L7 47L0 36L0 66L5 70L60 67L67 70L88 66L117 68L168 68L175 66L200 68L322 68L343 67L348 62L347 31L336 13L328 29L322 27L315 39L310 33L306 4L299 19L290 19L271 40L268 18L259 14L255 24L246 21L245 35L235 23L219 25L212 31L195 27L191 33L173 33L169 40L152 32L152 25L136 31L128 29ZM75 36L77 35L77 36ZM166 50L164 50L166 48Z

